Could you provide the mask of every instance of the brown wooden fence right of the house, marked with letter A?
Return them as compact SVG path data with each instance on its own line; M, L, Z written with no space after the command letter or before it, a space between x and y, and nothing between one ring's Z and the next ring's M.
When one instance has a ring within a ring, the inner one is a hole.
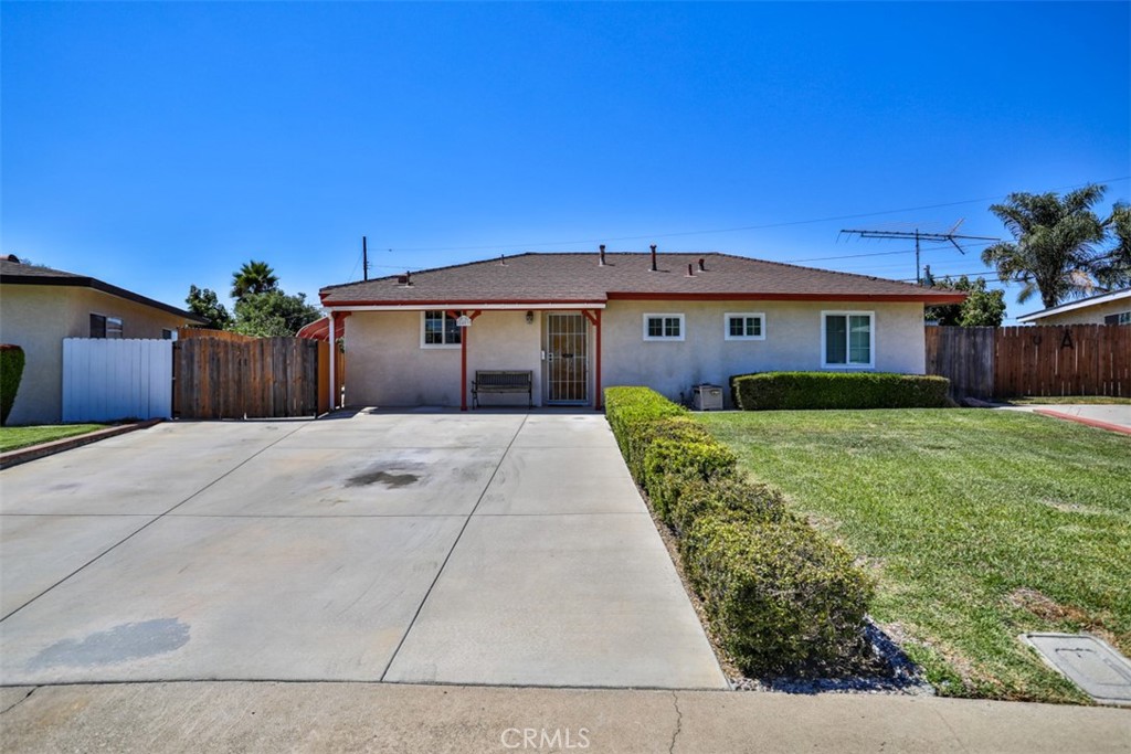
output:
M926 372L956 398L1131 396L1131 326L926 328Z

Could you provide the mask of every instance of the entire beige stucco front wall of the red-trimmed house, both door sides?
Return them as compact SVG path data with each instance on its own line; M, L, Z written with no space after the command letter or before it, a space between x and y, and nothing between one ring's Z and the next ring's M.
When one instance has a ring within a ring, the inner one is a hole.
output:
M875 314L874 371L922 374L923 305L865 302L610 302L603 313L603 385L647 384L670 398L691 385L726 387L733 374L821 369L821 312ZM765 314L765 340L726 340L724 314ZM684 314L683 341L645 341L644 314ZM468 339L467 373L530 370L534 400L543 387L543 313L486 311ZM346 401L353 406L458 406L459 349L421 348L420 312L355 312L346 320ZM589 328L590 397L595 338ZM853 370L855 371L855 370ZM492 395L484 402L521 405L525 396Z

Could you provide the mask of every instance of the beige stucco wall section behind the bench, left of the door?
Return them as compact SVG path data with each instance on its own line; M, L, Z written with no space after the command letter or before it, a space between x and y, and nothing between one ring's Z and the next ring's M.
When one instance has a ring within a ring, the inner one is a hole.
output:
M467 379L475 370L530 370L542 396L542 318L486 311L467 339ZM459 406L460 352L421 347L421 312L354 312L346 319L346 402L351 406ZM468 393L468 404L470 393ZM526 405L526 396L492 395L491 405Z

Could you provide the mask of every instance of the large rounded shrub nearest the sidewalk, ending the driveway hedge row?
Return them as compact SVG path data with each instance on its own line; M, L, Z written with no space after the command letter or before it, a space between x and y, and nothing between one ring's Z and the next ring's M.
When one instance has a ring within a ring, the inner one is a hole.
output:
M817 669L860 651L871 580L806 523L707 515L680 544L715 636L748 675Z

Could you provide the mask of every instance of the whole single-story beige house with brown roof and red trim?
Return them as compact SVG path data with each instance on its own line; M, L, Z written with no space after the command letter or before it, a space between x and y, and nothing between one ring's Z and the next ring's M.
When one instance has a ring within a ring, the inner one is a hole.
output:
M320 294L329 337L345 333L354 406L466 406L477 370L532 372L535 405L595 407L603 385L644 384L679 399L696 384L770 370L922 374L924 305L965 298L731 254L603 250L519 254Z

